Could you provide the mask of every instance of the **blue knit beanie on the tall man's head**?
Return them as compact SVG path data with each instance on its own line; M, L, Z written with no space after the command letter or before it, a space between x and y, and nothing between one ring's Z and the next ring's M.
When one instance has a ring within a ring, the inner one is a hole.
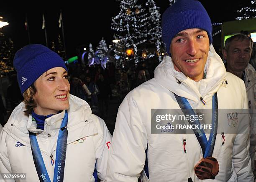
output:
M208 34L212 43L212 22L205 8L197 0L177 0L168 7L161 20L162 40L166 52L170 54L170 45L173 37L182 30L200 28Z

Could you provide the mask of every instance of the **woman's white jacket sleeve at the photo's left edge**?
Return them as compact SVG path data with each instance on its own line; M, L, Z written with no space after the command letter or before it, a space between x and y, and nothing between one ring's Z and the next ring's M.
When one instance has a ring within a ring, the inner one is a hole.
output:
M5 131L0 134L0 173L11 173L10 161L7 153ZM2 179L2 177L0 177ZM15 182L15 180L0 180L0 182Z

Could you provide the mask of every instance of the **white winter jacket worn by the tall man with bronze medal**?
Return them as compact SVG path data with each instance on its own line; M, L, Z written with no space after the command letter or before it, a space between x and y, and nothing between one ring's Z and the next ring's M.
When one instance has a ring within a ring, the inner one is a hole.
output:
M151 109L179 109L173 93L187 98L192 108L211 109L215 92L218 93L218 108L248 109L243 81L230 73L226 74L224 64L212 45L205 70L206 79L201 80L197 89L196 82L175 71L171 57L166 56L156 67L153 79L128 93L118 110L108 159L107 182L136 182L140 176L142 182L187 182L189 178L193 182L202 181L194 172L195 165L203 157L195 134L151 134ZM205 106L200 97L205 100ZM225 133L225 143L222 145L223 138L218 133L212 154L220 165L214 181L253 182L248 152L248 114L239 118L236 129L233 128L236 131L231 132L239 134L228 134L231 128L228 119L224 119L219 118L218 128ZM186 153L184 139L187 141ZM149 179L143 170L145 161L148 163Z

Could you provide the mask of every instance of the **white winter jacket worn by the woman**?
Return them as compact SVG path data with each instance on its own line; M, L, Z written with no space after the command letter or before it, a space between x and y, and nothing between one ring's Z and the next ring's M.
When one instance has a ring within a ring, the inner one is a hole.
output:
M90 106L82 99L70 95L68 109L67 154L64 182L94 182L98 177L105 181L111 135L105 122L92 114ZM12 112L0 135L0 173L26 173L26 180L39 182L33 162L28 130L38 133L37 141L51 181L54 165L50 155L56 156L59 128L65 111L46 119L44 130L36 129L31 115L23 114L24 102ZM50 134L50 135L49 135ZM0 180L5 181L5 180ZM6 180L10 182L12 180ZM13 180L14 181L14 180Z

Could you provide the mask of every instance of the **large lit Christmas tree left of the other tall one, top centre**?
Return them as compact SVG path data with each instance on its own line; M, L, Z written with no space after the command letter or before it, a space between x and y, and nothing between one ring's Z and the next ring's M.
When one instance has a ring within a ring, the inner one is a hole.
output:
M147 40L147 32L144 26L147 23L148 15L145 9L137 4L137 0L118 1L120 1L120 12L112 18L111 29L116 32L114 39L123 42L126 50L133 49L131 55L128 53L128 59L134 58L135 65L137 65L141 57L138 47Z

